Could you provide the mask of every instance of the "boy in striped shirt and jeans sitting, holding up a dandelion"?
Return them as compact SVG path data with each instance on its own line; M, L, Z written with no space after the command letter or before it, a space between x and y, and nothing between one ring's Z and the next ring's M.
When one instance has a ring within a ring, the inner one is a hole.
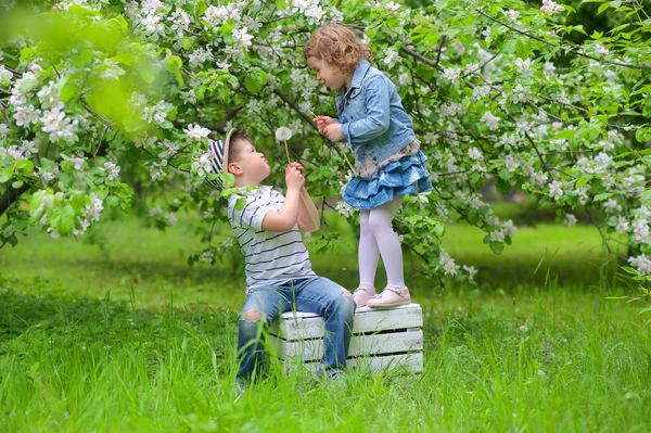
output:
M271 187L260 186L271 169L245 132L231 129L224 140L210 141L208 148L216 155L210 161L213 173L232 174L235 187L259 187L232 195L228 203L228 219L246 264L246 302L239 315L238 380L252 379L263 367L265 353L257 323L264 320L270 324L293 307L326 319L321 369L329 377L337 375L346 366L355 302L348 291L311 269L299 230L315 231L320 220L304 187L305 169L298 163L288 165L283 196ZM235 203L241 196L246 204L239 211ZM316 216L314 220L310 213Z

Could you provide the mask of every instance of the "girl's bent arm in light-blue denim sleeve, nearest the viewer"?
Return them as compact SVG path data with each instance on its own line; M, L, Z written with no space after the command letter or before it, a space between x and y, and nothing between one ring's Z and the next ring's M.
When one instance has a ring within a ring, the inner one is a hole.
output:
M342 124L342 135L350 144L371 141L388 129L390 94L385 80L386 78L381 75L370 77L363 91L367 116Z

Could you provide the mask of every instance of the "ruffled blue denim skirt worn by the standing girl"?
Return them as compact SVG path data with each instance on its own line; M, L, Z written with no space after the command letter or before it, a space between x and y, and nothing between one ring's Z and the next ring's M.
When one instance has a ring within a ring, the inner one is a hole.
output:
M432 191L430 174L424 166L425 154L418 151L386 164L372 177L354 177L342 198L352 207L370 211L388 203L396 195L416 195Z

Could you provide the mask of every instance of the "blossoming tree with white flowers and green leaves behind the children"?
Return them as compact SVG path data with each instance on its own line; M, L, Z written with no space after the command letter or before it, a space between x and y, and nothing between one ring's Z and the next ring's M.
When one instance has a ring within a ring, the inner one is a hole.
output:
M308 35L334 21L370 42L430 157L434 192L407 200L398 220L423 270L472 279L475 270L441 247L450 220L485 231L497 254L511 243L512 221L480 194L490 181L556 206L570 225L577 207L603 213L598 230L618 233L629 269L649 275L651 20L638 0L592 2L617 26L586 35L567 24L574 10L552 0L413 10L319 0L64 0L20 10L4 1L0 245L35 225L80 235L104 208L130 209L130 183L174 187L169 205L150 214L156 226L199 209L214 227L225 206L206 187L215 180L206 144L231 127L248 130L279 165L285 149L275 131L288 127L311 193L336 195L350 155L316 132L314 115L336 111L299 55ZM355 218L343 203L336 211ZM208 233L191 262L214 262L232 245ZM341 243L327 230L315 238L319 247Z

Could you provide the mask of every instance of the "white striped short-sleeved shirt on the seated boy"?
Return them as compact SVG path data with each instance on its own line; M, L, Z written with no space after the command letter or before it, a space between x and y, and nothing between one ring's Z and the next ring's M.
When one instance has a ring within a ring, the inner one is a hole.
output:
M290 280L316 277L298 225L284 233L263 230L265 216L269 212L280 211L284 196L271 187L264 186L247 192L246 204L238 211L235 204L240 198L242 195L231 195L228 220L244 254L247 289L281 285Z

